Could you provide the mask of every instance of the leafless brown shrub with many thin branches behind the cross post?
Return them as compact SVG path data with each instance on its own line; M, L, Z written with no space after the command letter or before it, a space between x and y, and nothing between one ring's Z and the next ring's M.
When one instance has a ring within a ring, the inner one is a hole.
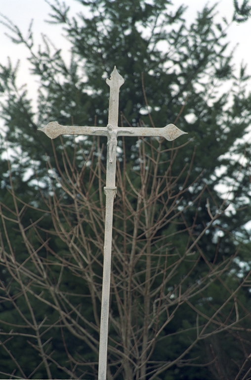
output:
M93 140L89 155L82 152L81 170L69 159L63 140L62 146L64 171L57 161L56 168L48 161L54 178L51 195L41 191L44 209L16 196L11 170L13 207L1 204L0 208L0 263L8 279L0 283L0 303L13 315L8 320L9 314L0 314L1 348L6 363L11 362L6 366L13 371L8 376L15 379L97 378L105 221L103 146L99 138ZM242 322L249 312L238 296L249 274L239 281L231 272L237 252L216 259L218 244L211 260L200 244L228 203L224 201L212 215L214 200L209 194L209 221L198 228L207 188L185 204L183 195L195 186L189 183L192 163L178 175L173 173L182 147L162 146L161 139L138 139L138 166L126 165L125 154L118 159L108 379L160 379L168 369L183 366L209 366L217 374L214 340L209 339L224 332L247 332ZM125 153L124 140L123 149ZM186 212L192 206L189 224ZM41 216L24 225L28 209ZM13 229L23 245L22 255L16 254L17 242L10 237ZM177 341L182 352L175 348ZM208 356L190 355L202 341L211 347ZM29 366L22 352L27 342L32 350L26 355L30 352L33 358ZM170 355L163 358L164 343ZM21 348L19 357L12 354L15 345ZM249 352L246 357L232 379L247 379ZM46 375L41 375L44 369ZM1 371L7 375L3 367Z

